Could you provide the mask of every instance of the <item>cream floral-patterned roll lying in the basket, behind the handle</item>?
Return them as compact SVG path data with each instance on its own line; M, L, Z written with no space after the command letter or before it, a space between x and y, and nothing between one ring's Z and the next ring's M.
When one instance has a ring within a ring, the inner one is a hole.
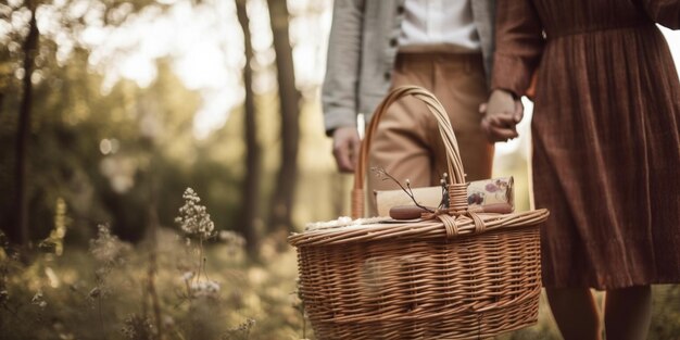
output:
M475 180L467 186L468 210L478 213L507 214L515 210L513 177L499 177ZM413 205L413 200L404 190L376 190L378 216L389 216L390 209L400 205ZM441 187L413 188L413 196L418 204L438 206L442 198Z

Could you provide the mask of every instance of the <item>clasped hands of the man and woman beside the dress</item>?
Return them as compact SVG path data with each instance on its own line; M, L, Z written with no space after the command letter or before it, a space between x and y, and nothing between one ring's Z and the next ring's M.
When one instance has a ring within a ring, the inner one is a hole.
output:
M489 102L479 106L484 115L481 128L491 142L507 141L519 136L516 125L524 116L524 105L505 90L493 90Z

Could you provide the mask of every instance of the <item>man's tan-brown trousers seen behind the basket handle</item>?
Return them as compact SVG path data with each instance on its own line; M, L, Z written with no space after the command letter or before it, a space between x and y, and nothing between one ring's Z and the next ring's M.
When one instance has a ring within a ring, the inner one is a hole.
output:
M479 104L488 97L481 54L418 52L396 56L392 87L417 85L443 104L453 126L466 180L491 177L493 144L483 135ZM419 100L408 97L392 104L374 135L368 155L368 215L376 215L374 190L399 189L372 167L382 167L405 185L438 185L446 172L444 146L437 121Z

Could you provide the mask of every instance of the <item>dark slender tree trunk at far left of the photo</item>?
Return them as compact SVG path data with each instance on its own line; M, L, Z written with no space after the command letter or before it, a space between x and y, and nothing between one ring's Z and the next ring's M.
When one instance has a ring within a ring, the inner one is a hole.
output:
M23 93L18 108L18 126L16 130L16 151L15 151L15 173L16 178L14 185L14 210L15 225L11 228L9 237L21 244L27 244L29 240L28 230L28 192L26 179L28 177L28 136L30 134L30 111L33 101L33 76L35 58L38 49L39 32L36 25L36 5L33 1L26 2L30 11L30 20L28 22L28 35L23 45L24 52L24 78L22 79Z

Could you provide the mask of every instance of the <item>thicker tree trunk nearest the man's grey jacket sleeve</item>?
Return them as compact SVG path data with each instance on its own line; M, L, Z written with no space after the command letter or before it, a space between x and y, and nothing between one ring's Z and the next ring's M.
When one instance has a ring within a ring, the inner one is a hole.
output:
M292 47L288 35L289 13L285 0L267 0L276 52L278 96L281 114L281 165L276 178L267 228L269 231L293 231L291 212L298 173L300 139L300 91L295 88Z

